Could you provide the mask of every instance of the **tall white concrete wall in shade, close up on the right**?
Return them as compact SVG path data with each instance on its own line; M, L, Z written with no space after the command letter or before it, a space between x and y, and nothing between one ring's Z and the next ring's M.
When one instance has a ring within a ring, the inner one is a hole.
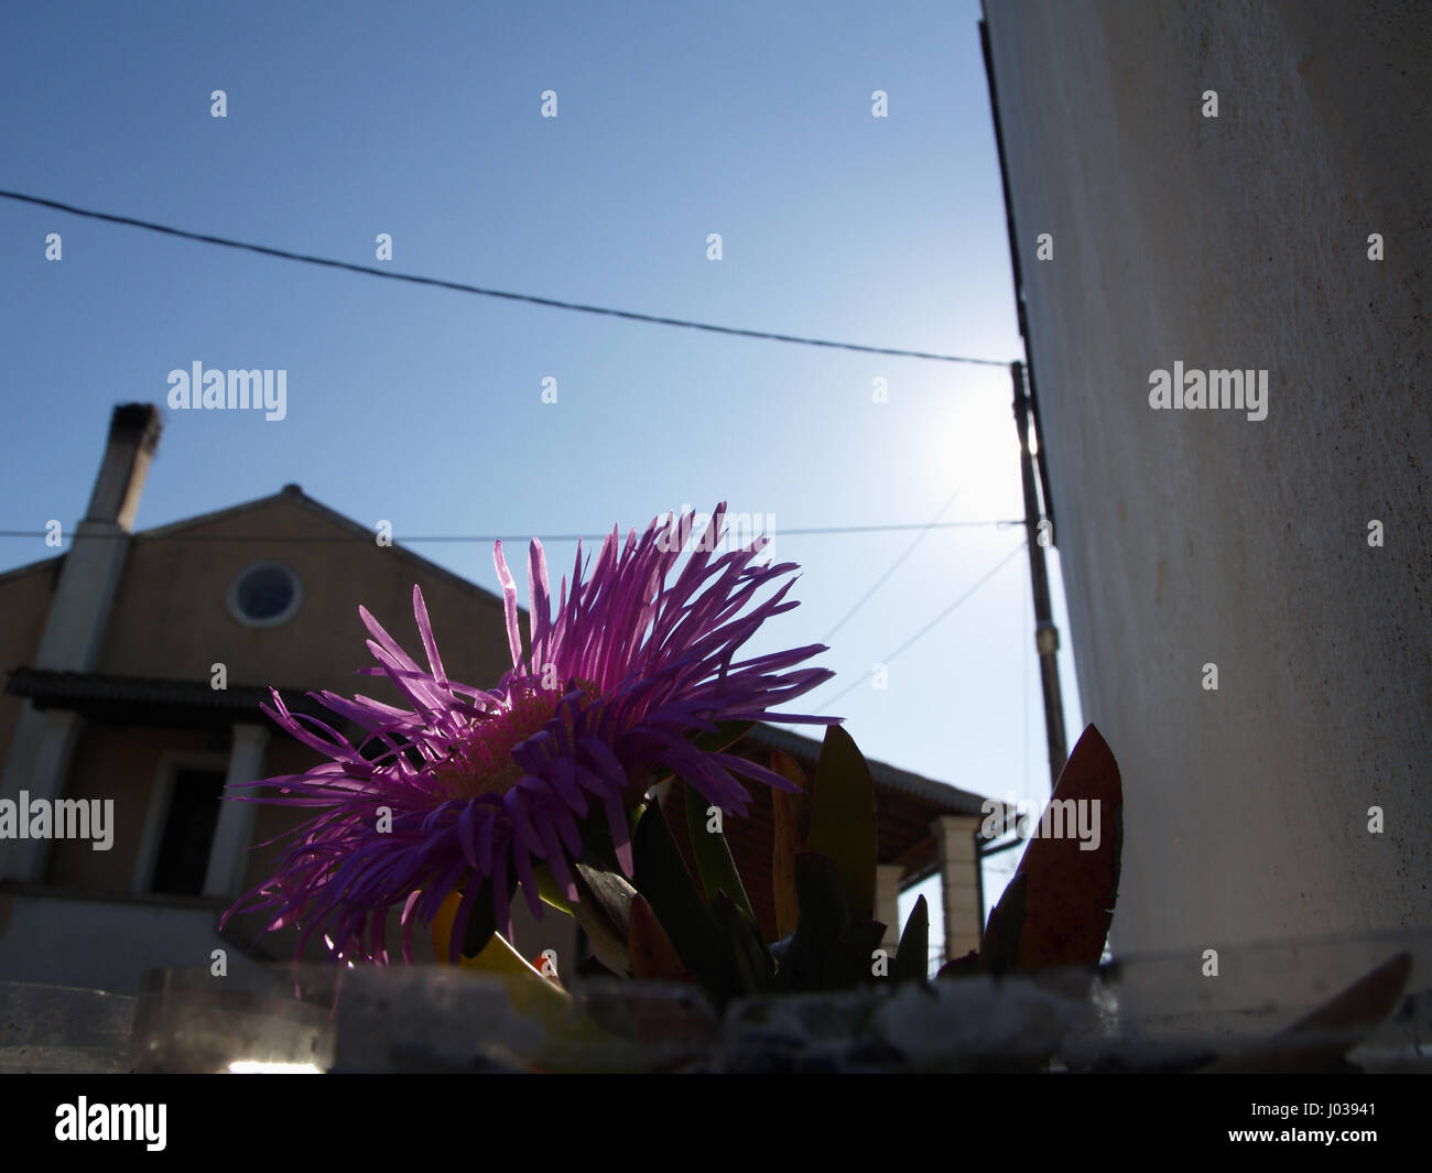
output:
M1081 703L1127 788L1113 944L1428 925L1432 6L987 14ZM1267 420L1151 411L1176 359L1266 368Z

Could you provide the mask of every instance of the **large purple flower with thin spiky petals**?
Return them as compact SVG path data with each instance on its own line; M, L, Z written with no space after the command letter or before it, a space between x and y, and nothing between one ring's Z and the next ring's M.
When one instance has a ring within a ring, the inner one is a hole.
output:
M736 659L762 623L798 606L785 600L793 577L749 606L796 566L756 563L763 537L713 557L725 508L717 506L670 586L690 514L679 524L670 516L653 520L640 539L632 530L620 547L613 528L586 580L579 543L571 597L563 579L556 617L546 557L534 540L527 563L530 655L518 632L517 586L497 543L513 667L493 690L448 679L417 587L412 610L427 669L359 607L379 665L364 672L392 680L408 708L309 693L368 732L354 746L326 722L291 713L272 693L275 708L265 712L329 761L245 783L274 788L278 796L241 801L319 814L289 834L276 875L223 919L269 909L268 930L299 927L299 954L322 931L335 958L387 962L387 915L401 904L402 957L411 961L414 922L431 924L444 898L461 891L451 932L455 960L480 892L490 892L494 922L508 935L510 878L541 915L534 865L546 864L567 899L577 899L571 861L583 854L584 821L589 836L593 828L610 834L630 875L627 811L653 778L679 775L736 815L750 798L737 776L789 789L772 771L693 745L723 722L836 722L772 712L833 675L795 669L822 645Z

